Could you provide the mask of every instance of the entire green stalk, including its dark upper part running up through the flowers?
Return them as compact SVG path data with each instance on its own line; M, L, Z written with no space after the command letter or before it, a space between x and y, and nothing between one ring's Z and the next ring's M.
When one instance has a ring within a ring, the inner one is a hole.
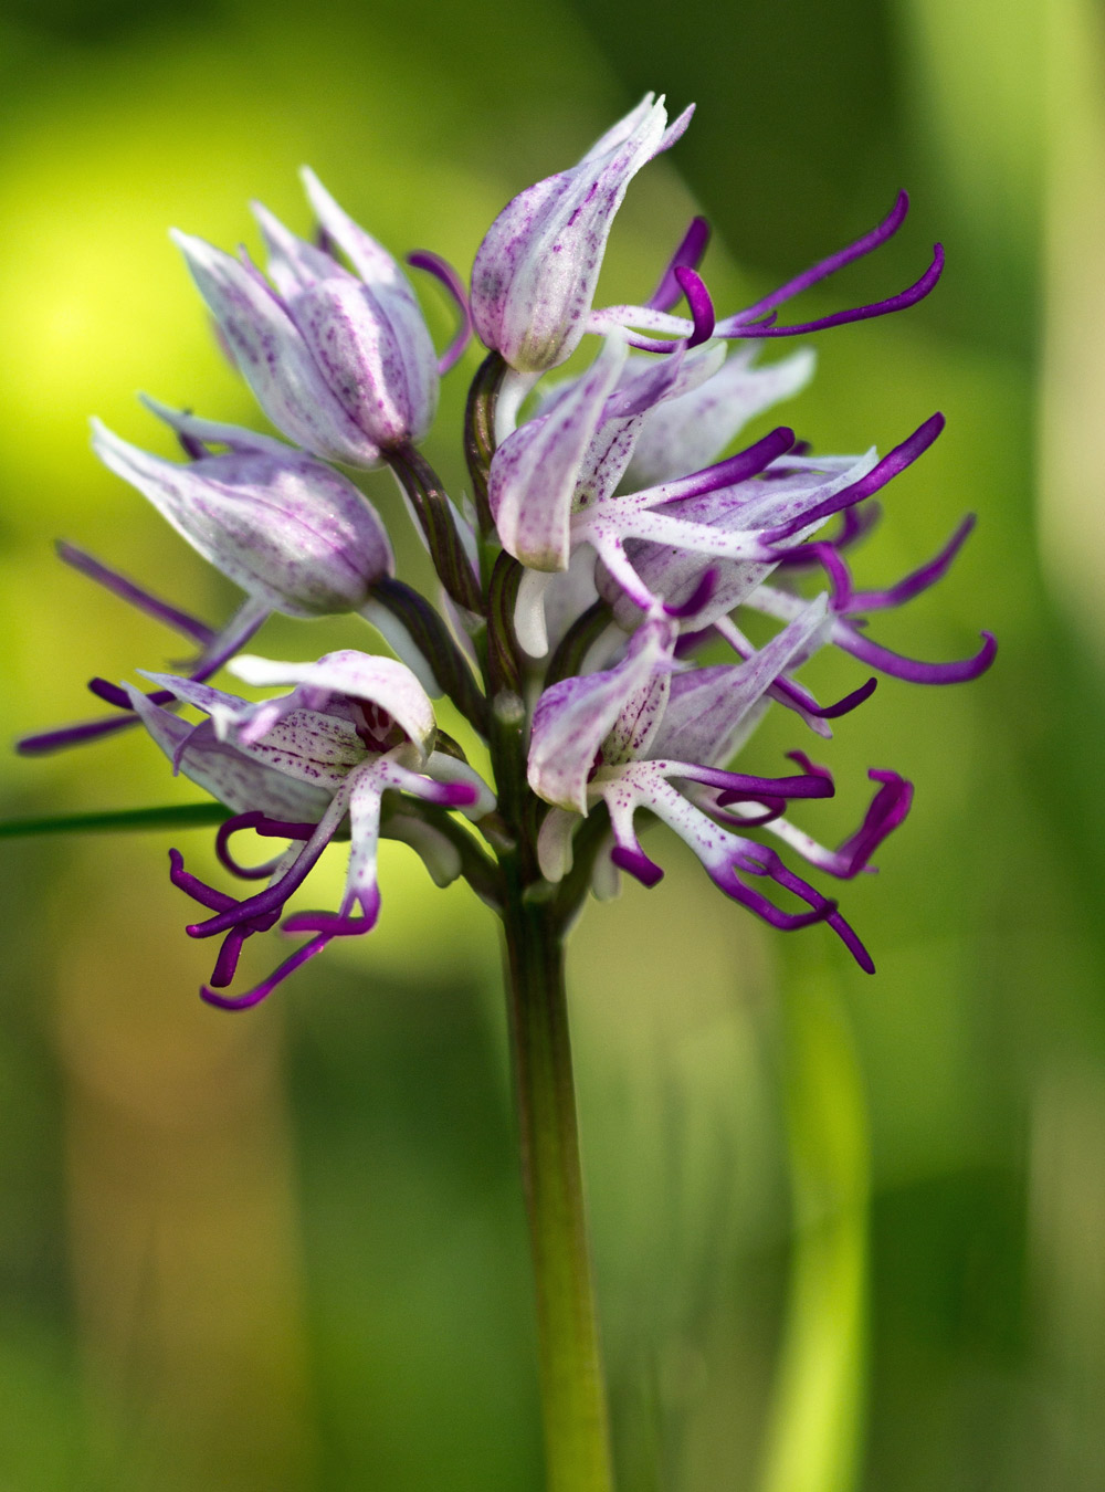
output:
M503 358L489 354L468 397L465 454L485 537L495 531L488 471L495 449L495 400L506 372ZM513 628L522 570L507 554L500 552L492 562L491 548L485 558L488 630L476 643L491 703L488 745L500 821L494 843L537 1297L547 1492L613 1492L564 988L564 940L579 894L562 904L537 864L540 804L526 785L525 665Z

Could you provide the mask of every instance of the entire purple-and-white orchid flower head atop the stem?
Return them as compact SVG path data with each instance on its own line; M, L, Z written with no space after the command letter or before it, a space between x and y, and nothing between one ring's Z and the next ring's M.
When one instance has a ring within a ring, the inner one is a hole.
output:
M315 240L255 209L264 272L245 254L174 234L224 346L283 439L146 400L176 433L182 461L98 422L92 445L245 598L209 625L60 546L66 562L182 633L198 655L185 676L140 670L152 689L94 679L110 715L21 749L139 725L174 773L224 806L218 858L255 889L207 885L170 850L173 883L203 909L188 932L218 941L203 989L212 1004L252 1006L331 938L371 930L382 836L413 846L438 885L464 876L498 912L511 897L541 904L562 931L588 891L610 894L622 873L647 886L661 879L641 841L643 830L650 844L662 840L656 821L734 901L778 928L825 922L872 970L837 901L790 861L844 880L871 868L910 809L911 785L871 770L862 824L829 849L789 818L792 803L832 795L826 767L795 749L790 768L764 777L735 758L769 706L828 737L831 721L869 698L874 677L831 704L798 682L828 645L917 683L989 667L989 634L974 656L932 664L866 631L872 613L944 574L971 519L896 585L857 589L849 567L877 518L877 494L932 445L942 418L881 457L816 455L787 427L722 452L813 372L810 351L759 363L758 343L902 310L936 283L942 254L936 246L920 279L887 300L778 324L784 303L899 228L902 194L856 243L719 319L698 273L708 228L696 218L650 300L596 309L625 191L690 113L668 124L664 100L650 94L576 166L514 197L479 246L470 286L437 255L410 255L456 303L458 334L441 355L404 272L310 172ZM681 303L687 315L677 313ZM456 501L418 446L434 422L438 380L473 330L486 357L467 403L471 497ZM555 376L585 342L589 364ZM440 597L395 577L380 518L336 463L391 468ZM274 612L352 613L350 642L368 645L368 622L397 658L358 646L309 662L243 653ZM747 637L749 612L777 624L768 642ZM210 683L224 667L286 692L224 692ZM492 785L438 727L432 697L447 697L488 743ZM245 831L271 839L274 856L243 864L234 839ZM336 839L349 841L340 904L288 912ZM277 925L304 940L261 983L231 994L245 941Z

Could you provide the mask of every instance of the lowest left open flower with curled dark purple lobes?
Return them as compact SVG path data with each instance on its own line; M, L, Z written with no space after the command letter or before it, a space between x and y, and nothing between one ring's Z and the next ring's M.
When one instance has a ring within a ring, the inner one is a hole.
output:
M224 935L203 997L239 1010L262 1000L331 938L368 932L376 925L376 852L385 792L461 809L471 818L491 812L495 800L471 767L434 749L432 706L415 674L392 658L352 649L327 653L313 664L243 655L230 668L254 685L294 688L252 704L189 679L146 674L176 700L203 710L207 719L200 725L188 725L139 689L128 686L128 692L174 771L233 810L216 841L222 864L240 877L268 882L264 891L236 900L189 874L171 852L173 883L213 913L192 924L189 935ZM339 910L286 918L285 932L310 932L312 940L246 994L218 994L231 983L245 940L280 919L288 898L346 822L349 870ZM246 828L283 839L288 849L259 870L243 868L230 853L230 837Z

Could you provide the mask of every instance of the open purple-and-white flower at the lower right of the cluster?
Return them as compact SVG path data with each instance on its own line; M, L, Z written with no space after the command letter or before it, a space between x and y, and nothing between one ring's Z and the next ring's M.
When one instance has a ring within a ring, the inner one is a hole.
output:
M798 776L755 777L725 765L764 713L771 685L826 633L820 597L747 662L680 673L677 624L650 618L614 668L546 689L529 749L529 785L552 804L538 836L543 874L553 882L567 874L579 816L601 803L610 816L613 864L646 886L656 885L664 871L644 853L635 827L638 813L652 813L693 849L728 897L772 927L828 922L860 968L872 973L866 949L835 901L789 870L772 849L735 830L765 828L820 870L851 877L868 868L872 852L905 818L911 785L898 773L872 771L880 788L863 825L829 850L781 818L787 801L832 795L826 768L802 753L792 753L802 768ZM808 910L777 907L749 885L749 876L768 877Z

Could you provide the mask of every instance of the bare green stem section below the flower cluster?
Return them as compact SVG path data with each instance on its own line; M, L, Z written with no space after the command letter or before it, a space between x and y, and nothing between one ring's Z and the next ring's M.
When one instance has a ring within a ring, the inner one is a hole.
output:
M583 1212L564 935L517 880L504 910L522 1180L537 1289L549 1492L611 1492L605 1391Z

